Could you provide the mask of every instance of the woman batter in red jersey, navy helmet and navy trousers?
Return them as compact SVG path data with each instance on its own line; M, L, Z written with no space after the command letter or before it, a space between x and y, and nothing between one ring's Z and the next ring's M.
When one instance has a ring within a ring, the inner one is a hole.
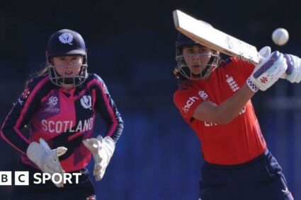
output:
M256 66L198 45L178 33L174 103L201 142L202 200L293 199L276 158L263 139L251 98L279 78L300 83L300 59L260 51ZM289 68L288 68L289 66ZM285 71L290 75L283 75Z

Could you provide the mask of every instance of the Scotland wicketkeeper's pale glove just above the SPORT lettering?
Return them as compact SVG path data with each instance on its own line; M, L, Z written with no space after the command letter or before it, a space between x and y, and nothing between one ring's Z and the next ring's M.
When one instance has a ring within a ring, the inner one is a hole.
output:
M40 139L40 143L33 141L29 144L26 155L27 157L38 165L42 172L63 174L61 164L59 163L59 156L66 153L67 148L60 146L55 149L51 149L45 140ZM63 183L55 184L57 187L64 187Z

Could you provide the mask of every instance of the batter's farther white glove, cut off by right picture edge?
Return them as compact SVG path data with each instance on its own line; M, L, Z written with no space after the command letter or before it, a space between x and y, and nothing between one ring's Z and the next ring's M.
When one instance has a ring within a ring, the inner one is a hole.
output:
M288 64L288 69L291 71L286 76L286 79L290 81L290 83L300 83L301 81L301 59L292 54L284 54L286 59L286 63Z

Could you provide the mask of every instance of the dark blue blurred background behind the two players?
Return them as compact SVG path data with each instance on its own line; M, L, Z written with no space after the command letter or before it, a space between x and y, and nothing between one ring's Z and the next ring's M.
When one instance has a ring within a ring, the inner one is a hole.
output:
M25 80L42 69L48 37L62 28L81 33L90 73L98 73L125 121L99 199L198 199L200 143L174 106L176 30L180 9L255 45L301 56L297 1L1 1L0 121L22 93ZM290 33L273 45L276 28ZM301 199L301 85L280 80L257 93L254 107L268 147L283 167L295 199ZM101 119L99 119L101 120ZM99 122L98 120L98 122ZM96 132L103 125L96 124ZM0 139L0 171L16 169L18 152ZM89 165L93 167L93 165ZM0 187L8 199L12 187Z

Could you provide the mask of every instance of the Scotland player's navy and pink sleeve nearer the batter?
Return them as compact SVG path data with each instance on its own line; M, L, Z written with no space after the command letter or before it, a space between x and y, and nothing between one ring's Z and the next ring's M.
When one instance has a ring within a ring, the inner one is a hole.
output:
M106 123L106 135L117 142L123 132L123 119L118 112L115 102L110 97L104 81L96 74L94 76L96 81L96 112L101 115L101 118Z

